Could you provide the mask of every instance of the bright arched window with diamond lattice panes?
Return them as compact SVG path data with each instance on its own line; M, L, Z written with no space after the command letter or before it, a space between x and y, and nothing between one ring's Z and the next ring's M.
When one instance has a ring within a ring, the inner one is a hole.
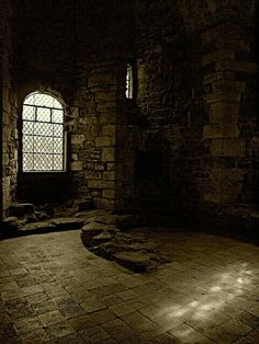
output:
M64 108L52 95L29 94L22 112L22 170L64 171Z

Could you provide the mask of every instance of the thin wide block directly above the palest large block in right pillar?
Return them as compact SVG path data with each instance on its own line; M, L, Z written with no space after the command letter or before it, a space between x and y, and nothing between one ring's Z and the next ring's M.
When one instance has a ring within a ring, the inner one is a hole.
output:
M226 123L224 125L205 125L203 128L204 139L214 138L238 138L239 128L237 124Z

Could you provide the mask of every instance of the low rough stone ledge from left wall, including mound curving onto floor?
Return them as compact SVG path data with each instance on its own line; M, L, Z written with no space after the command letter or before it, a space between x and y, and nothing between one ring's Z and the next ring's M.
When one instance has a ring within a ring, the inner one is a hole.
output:
M1 221L0 239L81 229L81 240L89 251L134 272L149 272L169 262L147 238L130 233L131 229L145 226L145 220L137 215L119 215L90 206L46 210L35 209L29 203L13 205L10 216Z

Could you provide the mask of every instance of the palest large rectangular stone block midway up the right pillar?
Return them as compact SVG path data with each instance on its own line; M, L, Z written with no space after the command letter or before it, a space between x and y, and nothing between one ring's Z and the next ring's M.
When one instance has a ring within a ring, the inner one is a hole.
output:
M238 139L214 139L211 153L213 157L244 157L244 142Z

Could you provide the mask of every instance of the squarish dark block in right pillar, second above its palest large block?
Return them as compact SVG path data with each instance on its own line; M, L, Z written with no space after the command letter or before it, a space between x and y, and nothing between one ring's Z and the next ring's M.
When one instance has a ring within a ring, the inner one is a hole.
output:
M239 104L229 102L218 102L211 104L211 123L237 122L239 115Z

